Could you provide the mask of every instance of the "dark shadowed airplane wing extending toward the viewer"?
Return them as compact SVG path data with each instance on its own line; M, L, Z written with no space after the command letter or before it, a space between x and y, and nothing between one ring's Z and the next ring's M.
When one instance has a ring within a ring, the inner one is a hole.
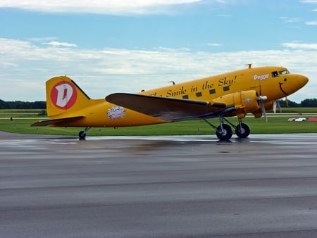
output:
M199 118L218 113L226 108L223 103L142 94L110 94L106 96L106 101L163 120Z

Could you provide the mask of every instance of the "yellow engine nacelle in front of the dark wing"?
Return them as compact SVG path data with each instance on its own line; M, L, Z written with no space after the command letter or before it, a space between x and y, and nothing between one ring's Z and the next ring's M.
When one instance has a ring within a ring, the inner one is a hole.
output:
M228 106L234 106L237 118L244 118L247 113L256 113L256 111L261 111L258 99L259 95L257 92L255 90L249 90L220 96L218 99L213 101L220 101Z

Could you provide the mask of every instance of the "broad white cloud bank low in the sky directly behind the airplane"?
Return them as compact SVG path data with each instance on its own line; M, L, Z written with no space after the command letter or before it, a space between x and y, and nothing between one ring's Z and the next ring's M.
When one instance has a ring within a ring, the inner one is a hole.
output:
M45 81L68 75L92 98L113 92L139 92L168 84L253 66L283 65L307 75L309 85L292 101L316 98L317 44L285 43L285 51L193 52L188 49L80 49L0 39L1 98L44 101ZM294 49L294 50L293 50ZM296 50L295 50L296 49ZM297 49L302 49L298 51ZM309 49L309 50L306 50Z

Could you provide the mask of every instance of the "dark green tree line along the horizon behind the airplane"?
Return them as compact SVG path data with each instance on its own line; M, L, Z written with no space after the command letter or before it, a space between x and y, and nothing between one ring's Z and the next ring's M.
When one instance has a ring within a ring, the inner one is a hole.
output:
M290 100L281 100L282 108L315 108L317 99L304 99L299 104ZM3 101L0 99L0 109L46 109L46 101Z

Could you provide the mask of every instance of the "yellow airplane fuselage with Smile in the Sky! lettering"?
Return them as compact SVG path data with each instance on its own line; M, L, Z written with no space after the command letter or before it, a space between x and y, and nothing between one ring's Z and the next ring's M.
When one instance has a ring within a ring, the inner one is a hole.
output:
M247 68L157 89L142 90L139 94L213 101L213 99L227 94L255 90L257 94L267 96L266 109L271 109L272 101L288 96L304 86L305 79L302 77L302 75L288 73L288 70L282 67ZM95 103L89 106L89 109L82 108L82 112L76 111L76 114L83 114L85 118L73 123L64 123L64 125L73 127L87 125L91 127L125 127L165 122L159 118L110 104L104 99L94 101Z

